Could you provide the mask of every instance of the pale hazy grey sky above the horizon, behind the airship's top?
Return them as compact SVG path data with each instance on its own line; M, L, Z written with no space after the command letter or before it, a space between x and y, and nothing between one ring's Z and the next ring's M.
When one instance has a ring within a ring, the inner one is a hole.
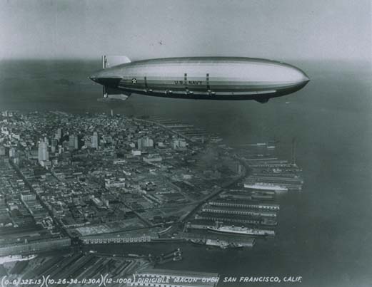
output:
M370 0L0 0L0 58L371 60Z

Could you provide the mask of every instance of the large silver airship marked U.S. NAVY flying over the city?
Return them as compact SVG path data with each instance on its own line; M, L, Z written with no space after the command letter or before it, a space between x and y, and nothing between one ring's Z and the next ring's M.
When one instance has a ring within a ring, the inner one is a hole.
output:
M103 56L103 70L89 78L104 86L104 98L132 93L199 100L256 100L295 93L309 81L295 66L261 58L188 57L130 61Z

